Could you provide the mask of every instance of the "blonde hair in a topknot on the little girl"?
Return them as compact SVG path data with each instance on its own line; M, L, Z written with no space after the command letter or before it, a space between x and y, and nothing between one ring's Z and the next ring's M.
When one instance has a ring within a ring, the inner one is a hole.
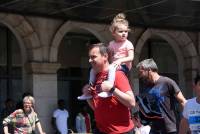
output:
M117 14L117 15L114 17L114 19L113 19L113 21L112 21L112 23L111 23L111 26L110 26L110 31L111 31L111 32L115 32L115 30L116 30L116 29L119 27L119 25L121 25L121 24L127 26L127 27L128 27L128 30L130 31L128 20L126 20L126 16L125 16L125 14L123 14L123 13L119 13L119 14Z

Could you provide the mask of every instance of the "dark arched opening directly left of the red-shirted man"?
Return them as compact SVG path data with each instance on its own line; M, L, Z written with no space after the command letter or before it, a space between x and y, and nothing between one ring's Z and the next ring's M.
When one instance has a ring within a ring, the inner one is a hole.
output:
M69 111L69 128L75 130L75 116L86 101L78 101L82 87L88 82L88 45L99 40L87 30L74 28L63 37L58 49L58 99L64 99Z

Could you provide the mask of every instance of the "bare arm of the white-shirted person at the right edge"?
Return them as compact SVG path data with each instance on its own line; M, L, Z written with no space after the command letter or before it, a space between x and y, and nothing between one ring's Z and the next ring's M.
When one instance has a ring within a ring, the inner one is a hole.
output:
M189 131L189 124L186 118L182 117L179 125L179 134L187 134Z

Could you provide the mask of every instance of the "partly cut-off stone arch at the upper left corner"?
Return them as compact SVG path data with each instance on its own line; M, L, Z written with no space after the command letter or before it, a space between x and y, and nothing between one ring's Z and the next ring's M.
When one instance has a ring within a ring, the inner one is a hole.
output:
M39 55L42 51L38 49L40 47L40 41L28 21L21 15L16 14L0 14L0 23L7 26L15 35L19 41L22 58L25 62L27 59L33 61L40 61Z

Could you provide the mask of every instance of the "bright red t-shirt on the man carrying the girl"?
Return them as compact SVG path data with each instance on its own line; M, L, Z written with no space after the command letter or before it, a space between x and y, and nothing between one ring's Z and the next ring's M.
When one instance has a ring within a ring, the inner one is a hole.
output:
M106 79L107 72L96 75L96 90ZM115 87L122 92L131 90L129 81L122 71L116 71ZM125 133L134 127L130 109L118 101L115 96L101 98L94 95L93 103L96 125L101 132L107 134Z

